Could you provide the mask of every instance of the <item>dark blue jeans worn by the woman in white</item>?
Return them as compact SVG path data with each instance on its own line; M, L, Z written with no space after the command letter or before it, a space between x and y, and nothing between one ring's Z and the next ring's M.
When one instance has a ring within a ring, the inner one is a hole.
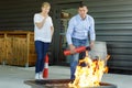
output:
M35 51L37 55L36 64L35 64L35 73L42 73L44 68L44 58L46 56L46 52L48 50L50 43L35 41Z

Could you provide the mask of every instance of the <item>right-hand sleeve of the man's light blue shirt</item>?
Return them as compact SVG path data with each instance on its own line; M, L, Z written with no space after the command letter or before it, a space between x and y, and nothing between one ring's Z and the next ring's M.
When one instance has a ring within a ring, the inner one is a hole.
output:
M90 41L96 40L96 32L95 32L95 20L90 18Z

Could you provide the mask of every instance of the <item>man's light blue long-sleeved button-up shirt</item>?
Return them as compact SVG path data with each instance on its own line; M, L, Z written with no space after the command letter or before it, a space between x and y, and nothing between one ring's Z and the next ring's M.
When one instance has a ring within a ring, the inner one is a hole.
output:
M96 40L94 18L88 14L85 20L82 20L79 14L73 16L68 23L66 33L68 44L73 44L72 37L88 40L88 34L90 34L90 41Z

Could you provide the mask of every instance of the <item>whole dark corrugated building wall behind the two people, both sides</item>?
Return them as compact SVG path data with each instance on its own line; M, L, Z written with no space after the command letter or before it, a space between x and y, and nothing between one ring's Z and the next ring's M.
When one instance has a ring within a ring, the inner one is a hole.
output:
M0 30L33 31L33 15L40 11L43 1L0 1ZM74 4L74 2L81 0L48 1L54 3L54 6L58 6L61 3ZM89 14L95 18L97 41L107 42L108 53L111 55L111 58L108 61L109 67L132 70L132 0L82 1L88 4ZM57 8L54 8L54 6L52 6L53 10L51 11L53 21L57 19L56 14L58 13ZM55 29L58 25L57 23L59 22L54 22ZM55 31L54 35L57 37L58 32ZM56 52L56 46L57 44L53 47L54 52Z

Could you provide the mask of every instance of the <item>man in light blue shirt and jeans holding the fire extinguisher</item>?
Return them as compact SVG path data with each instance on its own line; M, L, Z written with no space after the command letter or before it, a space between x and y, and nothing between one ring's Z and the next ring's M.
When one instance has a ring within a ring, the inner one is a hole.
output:
M70 79L75 79L74 74L79 57L79 54L75 53L75 48L87 45L92 47L96 40L95 21L87 12L88 9L86 6L79 6L78 14L70 19L66 33L67 43L73 54L70 58Z

